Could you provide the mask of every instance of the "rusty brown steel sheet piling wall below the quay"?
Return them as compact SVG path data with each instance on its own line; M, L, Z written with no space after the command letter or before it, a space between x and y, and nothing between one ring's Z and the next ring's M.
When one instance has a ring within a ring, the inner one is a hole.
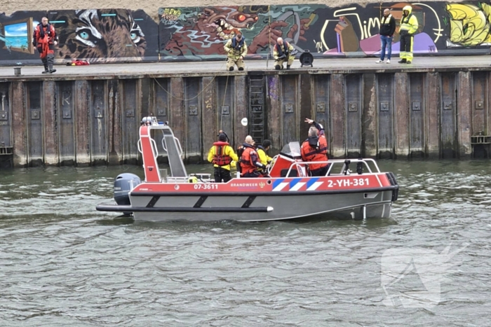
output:
M258 144L270 139L274 155L284 144L307 138L305 118L325 127L330 158L489 158L490 153L489 71L57 77L1 81L2 162L10 155L14 167L136 165L140 120L149 115L173 126L187 162L205 162L219 130L234 148L248 134Z

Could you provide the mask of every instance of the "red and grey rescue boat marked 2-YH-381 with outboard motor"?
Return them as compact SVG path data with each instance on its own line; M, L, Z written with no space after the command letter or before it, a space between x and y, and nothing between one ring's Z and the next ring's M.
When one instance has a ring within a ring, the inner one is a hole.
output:
M116 203L97 205L98 211L133 215L135 221L388 218L398 197L394 174L380 172L372 159L329 160L325 176L309 176L298 142L283 147L264 177L237 175L227 183L215 183L210 174L187 174L180 141L155 117L142 120L138 150L144 180L117 176ZM169 175L159 169L161 155L168 157Z

